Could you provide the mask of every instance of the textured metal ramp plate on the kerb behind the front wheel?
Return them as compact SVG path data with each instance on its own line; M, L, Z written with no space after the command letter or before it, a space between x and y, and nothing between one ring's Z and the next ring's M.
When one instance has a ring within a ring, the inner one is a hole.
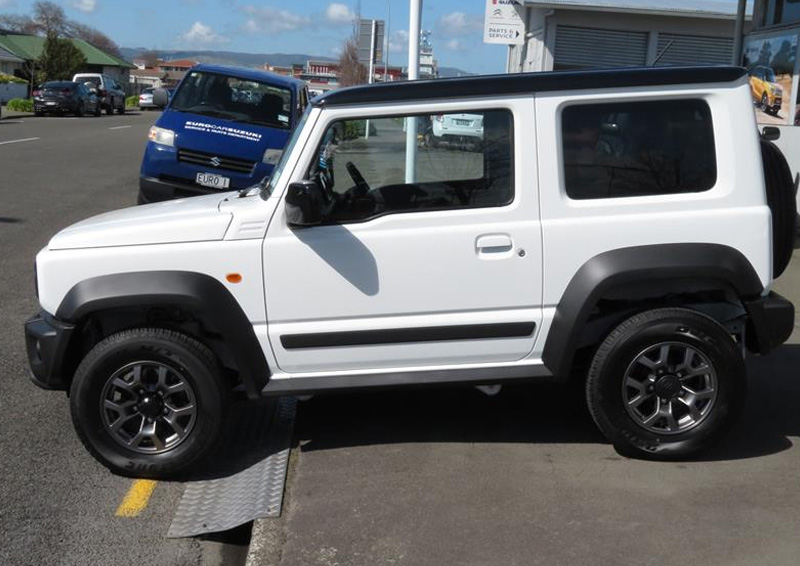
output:
M253 444L260 458L230 475L188 482L167 537L227 531L257 518L280 516L296 409L294 398L283 398L274 411L239 414L235 446L223 449L215 460L225 461L243 446L252 450Z

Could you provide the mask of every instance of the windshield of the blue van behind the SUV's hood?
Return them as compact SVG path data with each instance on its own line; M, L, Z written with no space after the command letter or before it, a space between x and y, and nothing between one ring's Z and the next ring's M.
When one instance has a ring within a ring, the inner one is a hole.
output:
M288 130L292 93L259 81L192 71L175 93L170 109Z

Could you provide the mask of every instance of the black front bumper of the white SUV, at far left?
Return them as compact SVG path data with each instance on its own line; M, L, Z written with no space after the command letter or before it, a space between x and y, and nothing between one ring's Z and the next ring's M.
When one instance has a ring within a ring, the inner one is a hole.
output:
M31 380L42 389L66 390L66 357L75 326L58 320L46 312L25 322L25 345Z

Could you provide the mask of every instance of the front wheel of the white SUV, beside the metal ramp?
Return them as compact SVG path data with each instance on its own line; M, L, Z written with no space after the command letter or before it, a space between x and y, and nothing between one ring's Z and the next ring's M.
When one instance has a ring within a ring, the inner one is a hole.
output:
M171 330L137 328L105 338L86 355L70 388L70 410L81 441L109 470L171 478L215 449L229 395L206 346Z

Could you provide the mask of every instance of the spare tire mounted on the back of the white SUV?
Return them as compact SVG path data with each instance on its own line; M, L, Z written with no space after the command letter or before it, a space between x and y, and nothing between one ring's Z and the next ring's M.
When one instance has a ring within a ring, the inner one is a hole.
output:
M780 277L792 260L797 220L797 203L792 170L774 143L761 140L761 160L772 212L772 277Z

